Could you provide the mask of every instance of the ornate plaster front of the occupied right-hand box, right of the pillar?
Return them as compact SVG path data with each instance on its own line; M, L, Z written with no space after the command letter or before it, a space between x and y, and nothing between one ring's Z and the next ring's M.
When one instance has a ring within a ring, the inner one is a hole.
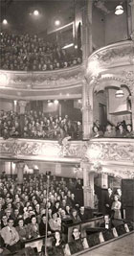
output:
M90 162L113 161L113 163L134 166L134 140L97 139L91 140L85 156Z

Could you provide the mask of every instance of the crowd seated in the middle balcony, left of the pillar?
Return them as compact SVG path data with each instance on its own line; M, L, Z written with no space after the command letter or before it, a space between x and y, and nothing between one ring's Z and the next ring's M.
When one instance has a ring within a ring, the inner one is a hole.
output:
M78 121L72 122L68 115L64 118L49 115L42 111L27 111L24 115L13 111L0 111L0 136L5 139L33 138L56 139L61 141L65 137L71 139L82 138L82 125Z

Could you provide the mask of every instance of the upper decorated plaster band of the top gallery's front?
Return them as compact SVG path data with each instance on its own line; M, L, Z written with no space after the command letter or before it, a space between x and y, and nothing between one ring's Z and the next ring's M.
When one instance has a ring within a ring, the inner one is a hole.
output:
M25 90L64 87L81 82L83 79L83 66L78 65L66 69L44 72L19 72L1 70L1 76L6 74L8 84L0 86L19 88Z

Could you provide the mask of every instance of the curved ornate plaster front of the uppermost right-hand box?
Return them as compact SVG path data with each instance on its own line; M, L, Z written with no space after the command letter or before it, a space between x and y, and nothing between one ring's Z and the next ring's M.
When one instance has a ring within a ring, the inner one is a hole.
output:
M115 81L115 86L122 83L134 90L134 44L131 40L112 44L101 48L88 58L86 79L95 91L110 86ZM107 81L106 85L101 82Z

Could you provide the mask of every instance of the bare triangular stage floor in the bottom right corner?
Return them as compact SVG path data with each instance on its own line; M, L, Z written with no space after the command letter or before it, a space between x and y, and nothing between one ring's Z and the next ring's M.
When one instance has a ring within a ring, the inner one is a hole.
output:
M134 256L134 233L82 253L83 256Z

